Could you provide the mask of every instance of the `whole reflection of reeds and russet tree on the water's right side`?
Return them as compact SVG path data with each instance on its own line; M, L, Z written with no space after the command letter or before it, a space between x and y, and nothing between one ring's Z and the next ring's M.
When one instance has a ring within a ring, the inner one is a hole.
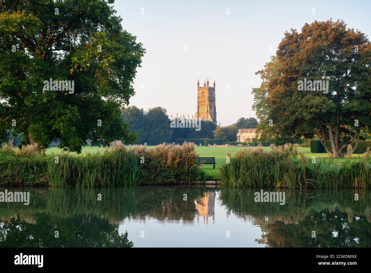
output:
M351 190L283 190L285 205L254 202L255 191L221 189L220 200L229 214L260 225L263 234L258 243L268 247L371 246L370 191L358 192L355 201Z

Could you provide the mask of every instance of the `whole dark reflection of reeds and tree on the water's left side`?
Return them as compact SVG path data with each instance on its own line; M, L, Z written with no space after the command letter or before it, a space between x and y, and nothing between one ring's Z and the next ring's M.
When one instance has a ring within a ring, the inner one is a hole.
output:
M131 247L128 234L118 233L120 221L148 217L193 221L197 215L194 200L205 192L188 186L27 191L31 196L28 206L0 204L0 247ZM59 240L54 237L56 230Z

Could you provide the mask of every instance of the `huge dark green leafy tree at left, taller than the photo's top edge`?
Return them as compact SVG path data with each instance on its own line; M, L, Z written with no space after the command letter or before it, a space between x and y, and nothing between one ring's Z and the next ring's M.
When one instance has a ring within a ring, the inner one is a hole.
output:
M0 137L81 152L114 139L134 140L120 107L145 53L104 0L0 2ZM52 87L45 81L52 79ZM70 81L69 90L61 81ZM73 82L72 82L73 81Z

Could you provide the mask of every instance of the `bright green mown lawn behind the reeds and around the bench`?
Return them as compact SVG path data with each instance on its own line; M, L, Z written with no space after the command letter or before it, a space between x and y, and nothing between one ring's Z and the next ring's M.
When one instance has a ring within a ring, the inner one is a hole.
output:
M151 148L153 146L148 146L148 148ZM262 147L265 150L270 150L270 147ZM82 155L86 155L87 152L90 153L96 153L97 150L100 150L101 152L104 152L105 148L104 147L92 147L92 146L84 146L82 147ZM207 147L207 146L196 146L195 150L198 153L199 156L214 156L215 157L215 169L213 169L213 165L203 165L203 169L206 170L208 177L209 178L217 178L218 176L218 168L219 166L223 165L223 163L226 162L226 157L227 157L227 151L229 151L232 156L237 153L237 151L245 149L245 147ZM252 149L256 149L256 147L252 147ZM299 151L304 152L305 155L308 157L312 156L320 156L320 157L325 157L328 158L327 153L311 153L311 148L309 147L299 147ZM60 149L58 147L50 147L45 151L46 153L60 153ZM353 154L352 159L360 159L362 158L362 155L359 154ZM344 161L345 158L339 158L335 159L338 162Z

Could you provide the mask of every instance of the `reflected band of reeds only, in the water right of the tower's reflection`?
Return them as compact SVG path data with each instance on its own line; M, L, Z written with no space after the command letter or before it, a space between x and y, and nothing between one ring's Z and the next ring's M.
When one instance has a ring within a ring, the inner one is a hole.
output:
M277 189L265 189L277 191ZM371 192L359 191L359 200L354 200L356 192L350 189L308 189L285 190L285 205L278 202L255 202L254 193L260 189L221 188L220 201L229 214L259 221L282 220L297 223L309 212L333 211L335 208L352 215L365 215L371 221ZM261 224L257 222L256 224Z

